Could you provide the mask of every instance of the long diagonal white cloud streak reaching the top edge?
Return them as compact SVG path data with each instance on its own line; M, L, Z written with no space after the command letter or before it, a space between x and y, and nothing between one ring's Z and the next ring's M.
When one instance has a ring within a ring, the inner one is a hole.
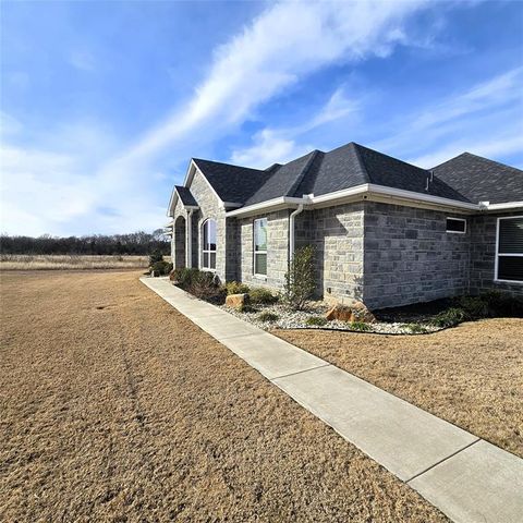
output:
M193 99L149 130L125 158L154 155L195 130L242 122L283 88L336 62L387 56L406 42L402 23L423 1L283 2L217 49Z

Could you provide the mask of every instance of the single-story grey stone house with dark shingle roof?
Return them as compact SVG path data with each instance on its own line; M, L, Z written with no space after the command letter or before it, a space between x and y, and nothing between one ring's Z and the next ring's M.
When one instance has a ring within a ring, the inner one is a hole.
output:
M221 281L281 289L313 244L330 301L523 295L523 171L470 153L428 170L355 143L265 170L193 158L168 215L174 267Z

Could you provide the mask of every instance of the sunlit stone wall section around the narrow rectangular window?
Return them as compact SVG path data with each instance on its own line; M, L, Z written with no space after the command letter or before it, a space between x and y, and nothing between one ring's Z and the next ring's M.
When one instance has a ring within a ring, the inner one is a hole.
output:
M267 212L236 220L236 279L251 285L281 290L289 263L290 210ZM267 218L267 277L254 275L254 220Z

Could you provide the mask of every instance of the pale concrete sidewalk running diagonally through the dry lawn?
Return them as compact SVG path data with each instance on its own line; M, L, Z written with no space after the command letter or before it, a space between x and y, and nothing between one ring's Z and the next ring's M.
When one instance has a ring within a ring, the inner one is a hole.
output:
M523 460L224 311L141 279L457 522L523 521Z

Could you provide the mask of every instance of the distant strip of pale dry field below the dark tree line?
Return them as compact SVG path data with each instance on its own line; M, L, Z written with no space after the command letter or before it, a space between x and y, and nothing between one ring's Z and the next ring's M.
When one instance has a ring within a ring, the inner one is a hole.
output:
M0 256L0 270L146 269L147 265L148 256L32 254L2 254Z

